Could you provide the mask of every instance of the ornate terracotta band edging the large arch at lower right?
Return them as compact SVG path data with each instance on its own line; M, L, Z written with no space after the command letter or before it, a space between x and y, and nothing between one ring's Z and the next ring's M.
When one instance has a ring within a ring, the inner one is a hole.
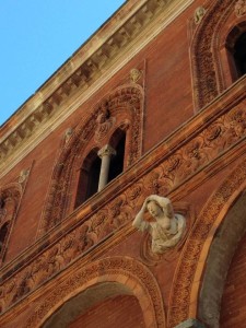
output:
M210 197L183 248L169 297L167 327L198 316L199 291L215 232L229 209L246 188L246 160Z

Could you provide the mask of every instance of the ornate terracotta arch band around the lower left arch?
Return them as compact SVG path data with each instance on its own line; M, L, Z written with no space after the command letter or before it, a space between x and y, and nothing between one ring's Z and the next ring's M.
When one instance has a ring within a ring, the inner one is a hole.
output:
M105 282L122 284L138 298L147 328L166 327L162 294L153 273L143 263L129 257L105 258L79 268L74 276L60 282L56 291L50 291L25 327L42 327L71 297Z

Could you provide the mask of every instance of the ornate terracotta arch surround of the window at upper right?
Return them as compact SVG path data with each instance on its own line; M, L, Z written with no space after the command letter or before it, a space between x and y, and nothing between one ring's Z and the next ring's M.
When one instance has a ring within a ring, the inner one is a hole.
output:
M223 90L220 60L216 54L218 35L234 11L231 0L207 1L207 12L197 26L190 47L194 101L197 109L213 101Z

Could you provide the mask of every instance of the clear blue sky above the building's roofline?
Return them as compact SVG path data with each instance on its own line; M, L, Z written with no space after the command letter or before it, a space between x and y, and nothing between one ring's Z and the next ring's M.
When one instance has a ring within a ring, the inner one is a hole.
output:
M0 125L125 0L0 1Z

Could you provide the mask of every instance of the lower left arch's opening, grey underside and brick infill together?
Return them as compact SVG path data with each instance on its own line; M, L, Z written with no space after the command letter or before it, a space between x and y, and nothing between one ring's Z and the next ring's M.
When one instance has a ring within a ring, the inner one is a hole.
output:
M66 302L44 328L143 328L144 318L138 298L118 282L105 282L86 289Z

